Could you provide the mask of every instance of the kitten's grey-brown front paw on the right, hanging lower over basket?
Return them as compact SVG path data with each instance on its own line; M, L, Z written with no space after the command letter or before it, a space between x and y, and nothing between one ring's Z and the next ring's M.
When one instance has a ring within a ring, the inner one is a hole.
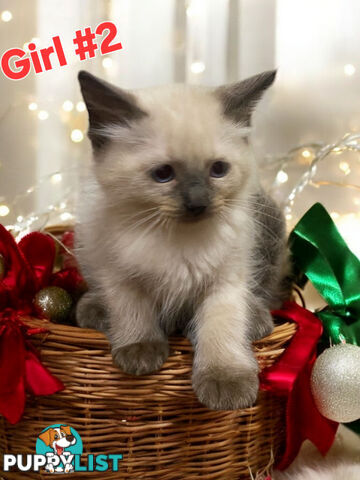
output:
M238 372L223 368L195 371L192 382L199 401L211 410L251 407L259 390L257 368Z

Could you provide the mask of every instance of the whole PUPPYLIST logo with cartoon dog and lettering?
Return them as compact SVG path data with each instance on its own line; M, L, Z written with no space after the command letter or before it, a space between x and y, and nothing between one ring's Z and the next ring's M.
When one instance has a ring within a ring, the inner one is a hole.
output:
M3 470L38 472L45 468L47 473L63 474L72 472L117 472L120 454L87 456L87 464L81 462L83 443L75 428L54 424L45 428L36 439L36 454L5 454Z

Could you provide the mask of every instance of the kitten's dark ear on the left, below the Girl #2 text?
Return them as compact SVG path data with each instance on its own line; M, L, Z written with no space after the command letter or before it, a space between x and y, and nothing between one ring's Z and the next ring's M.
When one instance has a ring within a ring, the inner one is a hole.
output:
M78 75L81 93L89 113L88 136L94 149L107 141L102 127L109 124L128 126L146 113L137 105L134 95L111 85L84 70Z

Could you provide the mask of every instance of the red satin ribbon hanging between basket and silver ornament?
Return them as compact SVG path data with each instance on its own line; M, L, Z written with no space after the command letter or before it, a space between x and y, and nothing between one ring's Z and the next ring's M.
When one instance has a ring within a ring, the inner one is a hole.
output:
M276 465L284 470L293 462L306 439L325 455L334 441L338 423L320 414L310 389L316 346L322 334L320 320L293 302L285 303L283 309L272 313L274 317L298 325L280 359L260 374L263 390L287 397L285 452Z

